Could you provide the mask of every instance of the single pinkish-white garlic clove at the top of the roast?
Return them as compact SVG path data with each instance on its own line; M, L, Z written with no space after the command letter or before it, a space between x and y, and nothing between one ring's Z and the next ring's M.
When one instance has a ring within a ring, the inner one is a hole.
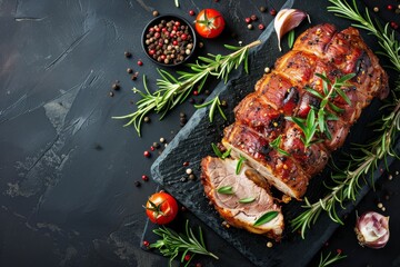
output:
M299 9L281 9L278 12L273 21L273 27L278 36L279 51L282 51L282 48L280 46L280 39L288 31L298 27L306 17L308 18L309 23L311 23L310 16Z

